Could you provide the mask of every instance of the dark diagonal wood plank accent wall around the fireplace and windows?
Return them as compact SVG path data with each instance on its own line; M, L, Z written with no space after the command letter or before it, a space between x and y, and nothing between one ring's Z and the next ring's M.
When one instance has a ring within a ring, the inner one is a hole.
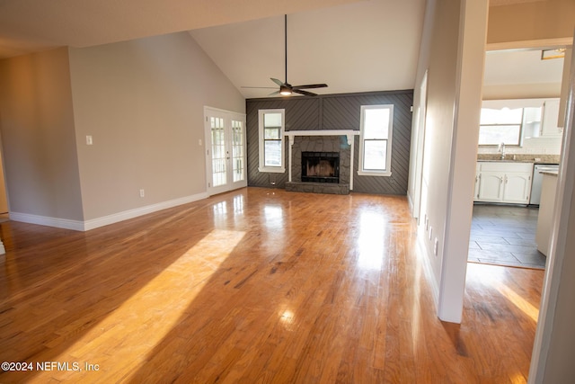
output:
M266 98L246 100L248 141L248 185L284 188L288 182L288 140L286 173L258 171L258 111L285 109L286 130L354 129L359 130L362 105L394 104L392 175L359 176L359 136L355 140L354 192L407 194L411 141L411 105L413 91L386 91L365 94L325 94L316 97Z

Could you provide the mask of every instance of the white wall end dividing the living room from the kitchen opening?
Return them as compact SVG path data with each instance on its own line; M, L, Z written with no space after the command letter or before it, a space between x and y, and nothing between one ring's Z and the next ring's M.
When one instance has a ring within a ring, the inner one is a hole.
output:
M422 43L416 80L428 70L419 237L438 316L450 322L460 322L463 309L486 20L487 0L429 1L424 35L430 38ZM416 94L416 110L419 101Z

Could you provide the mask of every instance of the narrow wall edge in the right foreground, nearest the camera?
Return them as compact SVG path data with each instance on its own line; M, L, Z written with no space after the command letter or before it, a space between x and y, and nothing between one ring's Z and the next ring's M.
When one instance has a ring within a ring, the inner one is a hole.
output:
M575 67L571 65L570 103L557 183L551 253L532 355L529 383L571 383L575 377Z

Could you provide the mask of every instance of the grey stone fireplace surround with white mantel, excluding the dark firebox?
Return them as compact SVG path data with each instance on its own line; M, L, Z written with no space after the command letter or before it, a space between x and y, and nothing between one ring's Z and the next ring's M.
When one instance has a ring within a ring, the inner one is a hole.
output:
M354 130L299 130L287 131L289 138L288 183L286 191L349 194L353 189ZM339 152L340 183L302 182L302 152Z

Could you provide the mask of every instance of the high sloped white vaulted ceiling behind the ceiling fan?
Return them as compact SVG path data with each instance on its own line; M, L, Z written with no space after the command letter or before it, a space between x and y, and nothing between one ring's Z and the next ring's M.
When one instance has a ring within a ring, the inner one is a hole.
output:
M375 0L288 14L288 83L326 83L317 94L411 89L424 0ZM285 81L284 18L190 31L246 98Z

